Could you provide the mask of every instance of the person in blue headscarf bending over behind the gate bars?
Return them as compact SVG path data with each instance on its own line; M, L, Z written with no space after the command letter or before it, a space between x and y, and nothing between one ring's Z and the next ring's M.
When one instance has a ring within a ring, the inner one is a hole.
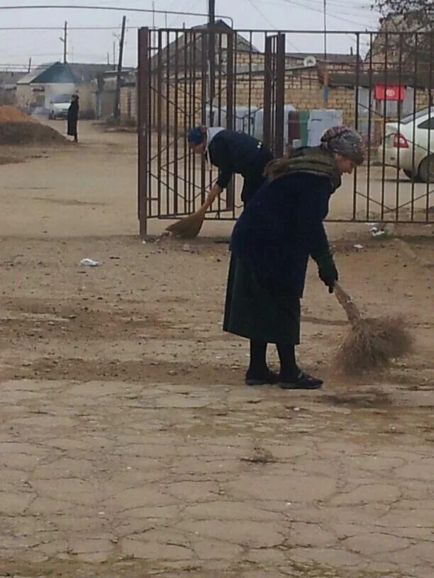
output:
M240 174L244 177L241 200L244 206L250 203L266 180L265 166L273 159L263 142L245 132L204 126L192 128L188 142L196 154L204 154L218 167L218 179L208 198L215 199L228 186L233 174Z

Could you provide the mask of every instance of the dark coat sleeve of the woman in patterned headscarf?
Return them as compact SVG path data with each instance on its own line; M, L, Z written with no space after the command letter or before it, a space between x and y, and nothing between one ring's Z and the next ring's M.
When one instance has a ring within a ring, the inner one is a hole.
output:
M298 222L304 224L308 252L315 258L317 254L329 251L323 220L328 215L331 187L328 179L318 176L306 176L305 185L297 217Z

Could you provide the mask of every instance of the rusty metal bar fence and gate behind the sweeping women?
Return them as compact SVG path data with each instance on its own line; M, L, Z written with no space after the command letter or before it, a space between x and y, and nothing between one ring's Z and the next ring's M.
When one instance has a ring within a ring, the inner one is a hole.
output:
M149 219L194 212L216 179L187 147L187 130L198 124L247 132L277 157L288 146L318 145L330 125L352 125L367 161L333 196L329 220L432 220L434 34L330 32L325 52L291 52L298 38L321 46L324 35L221 25L139 30L142 234ZM347 54L330 52L343 43ZM241 184L236 176L207 218L235 219Z

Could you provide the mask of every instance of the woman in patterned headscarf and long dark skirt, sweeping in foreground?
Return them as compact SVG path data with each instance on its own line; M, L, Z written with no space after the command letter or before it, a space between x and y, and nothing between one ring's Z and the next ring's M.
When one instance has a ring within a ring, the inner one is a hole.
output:
M338 270L323 219L342 174L363 160L357 132L329 129L319 147L295 149L269 164L268 182L235 224L223 330L250 339L247 385L278 382L284 389L310 390L323 385L296 363L300 300L309 256L333 293ZM277 345L279 375L267 366L268 343Z

